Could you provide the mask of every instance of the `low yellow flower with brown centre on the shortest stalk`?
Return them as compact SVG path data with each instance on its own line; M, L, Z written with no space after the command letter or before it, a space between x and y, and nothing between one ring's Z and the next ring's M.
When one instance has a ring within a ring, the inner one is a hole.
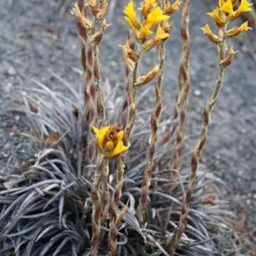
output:
M113 158L122 154L129 146L125 146L123 142L124 131L116 125L103 126L98 129L92 127L97 138L97 145L105 157Z

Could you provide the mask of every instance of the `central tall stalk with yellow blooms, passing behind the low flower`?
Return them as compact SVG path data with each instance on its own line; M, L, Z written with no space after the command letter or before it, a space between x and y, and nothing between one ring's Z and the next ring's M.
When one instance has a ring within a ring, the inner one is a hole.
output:
M149 38L148 36L153 33L152 29L154 26L163 20L169 18L168 15L164 15L163 10L157 6L157 1L145 0L141 3L141 17L142 21L138 19L136 15L136 10L134 8L134 2L130 1L124 9L124 16L127 23L132 28L132 36L136 42L138 51L134 50L131 40L127 40L123 45L124 63L127 73L131 74L129 80L129 88L127 92L127 107L129 108L127 115L127 122L125 124L125 145L129 144L131 137L132 127L134 126L136 117L136 94L138 88L144 86L145 84L152 81L158 76L160 68L159 65L153 67L144 76L138 76L138 66L143 54L166 39L169 34L165 33L163 28L159 26L156 31L156 36L154 38ZM161 78L160 78L161 80ZM156 118L159 118L159 113L161 109L161 82L158 83L157 90L157 110ZM126 102L125 102L126 103ZM124 105L125 106L125 105ZM156 132L154 136L156 140ZM153 142L154 143L154 142ZM156 143L155 143L156 145ZM150 164L151 165L151 164ZM124 214L124 211L118 209L120 198L122 196L122 186L124 182L124 168L125 168L125 156L120 156L117 159L117 170L116 170L116 188L112 201L112 221L111 221L111 231L109 234L109 244L111 245L112 255L116 253L116 235L118 226L120 225L120 214ZM146 178L145 178L146 179Z

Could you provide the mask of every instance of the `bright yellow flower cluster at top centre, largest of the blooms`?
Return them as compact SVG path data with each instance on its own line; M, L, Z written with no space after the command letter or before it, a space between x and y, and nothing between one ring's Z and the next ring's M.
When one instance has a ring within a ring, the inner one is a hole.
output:
M170 18L170 13L179 9L180 1L173 4L166 4L164 8L157 6L157 0L144 0L141 3L142 21L138 18L134 2L131 0L124 8L124 19L131 26L138 42L144 42L149 35L153 33L154 26L158 24L157 36L155 40L168 38L169 33L159 25L160 22Z

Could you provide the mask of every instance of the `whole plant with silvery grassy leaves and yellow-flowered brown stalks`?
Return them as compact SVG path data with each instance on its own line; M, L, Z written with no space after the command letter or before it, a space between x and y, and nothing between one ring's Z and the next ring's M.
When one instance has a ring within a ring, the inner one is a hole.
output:
M143 0L141 17L133 1L125 6L133 40L122 45L125 97L118 87L100 86L99 44L109 26L104 19L108 1L77 1L72 14L83 42L84 84L75 90L63 81L67 95L38 82L37 88L22 92L22 111L30 127L23 135L32 139L35 159L22 173L0 175L1 255L244 255L243 244L236 243L234 214L219 190L223 181L199 163L224 70L236 53L232 47L226 49L228 33L237 34L227 30L228 22L251 9L244 0L234 11L233 2L220 1L218 10L209 13L217 19L220 35L214 35L209 25L202 28L219 47L219 75L204 109L189 172L181 163L189 92L189 0L182 8L173 125L160 118L165 115L161 81L164 41L171 29L168 19L180 1ZM248 30L247 23L240 30ZM157 65L138 76L141 57L154 48ZM150 89L138 93L151 81L153 109L147 104ZM145 122L148 113L150 124ZM175 129L170 132L170 127Z

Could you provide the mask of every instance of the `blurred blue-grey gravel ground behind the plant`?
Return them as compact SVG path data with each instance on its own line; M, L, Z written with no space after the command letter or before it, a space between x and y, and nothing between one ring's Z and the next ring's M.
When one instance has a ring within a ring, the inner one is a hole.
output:
M125 1L117 2L115 15L110 13L108 17L113 26L101 47L102 76L113 84L122 82L122 52L118 44L127 36L121 12ZM81 83L71 68L80 67L79 44L68 4L65 0L0 1L0 170L8 170L13 164L18 166L18 160L24 160L22 152L26 152L25 146L17 148L26 140L13 131L16 128L13 125L17 125L19 131L24 131L26 125L19 115L8 111L13 102L10 92L33 85L33 79L61 90L61 83L52 72L70 84ZM209 22L205 12L211 10L211 4L195 0L191 9L191 98L187 134L188 145L192 146L200 129L200 113L216 78L217 58L214 45L199 29ZM164 102L173 102L175 97L179 19L179 14L173 15L172 36L167 45ZM249 37L255 42L255 31L250 31ZM256 227L256 44L246 35L232 44L239 53L225 74L225 86L212 115L203 160L209 170L227 182L228 199L239 211L248 212L248 225L253 228ZM152 60L152 54L148 54L144 67L152 67ZM17 149L13 155L16 160L10 165L6 161L14 149Z

